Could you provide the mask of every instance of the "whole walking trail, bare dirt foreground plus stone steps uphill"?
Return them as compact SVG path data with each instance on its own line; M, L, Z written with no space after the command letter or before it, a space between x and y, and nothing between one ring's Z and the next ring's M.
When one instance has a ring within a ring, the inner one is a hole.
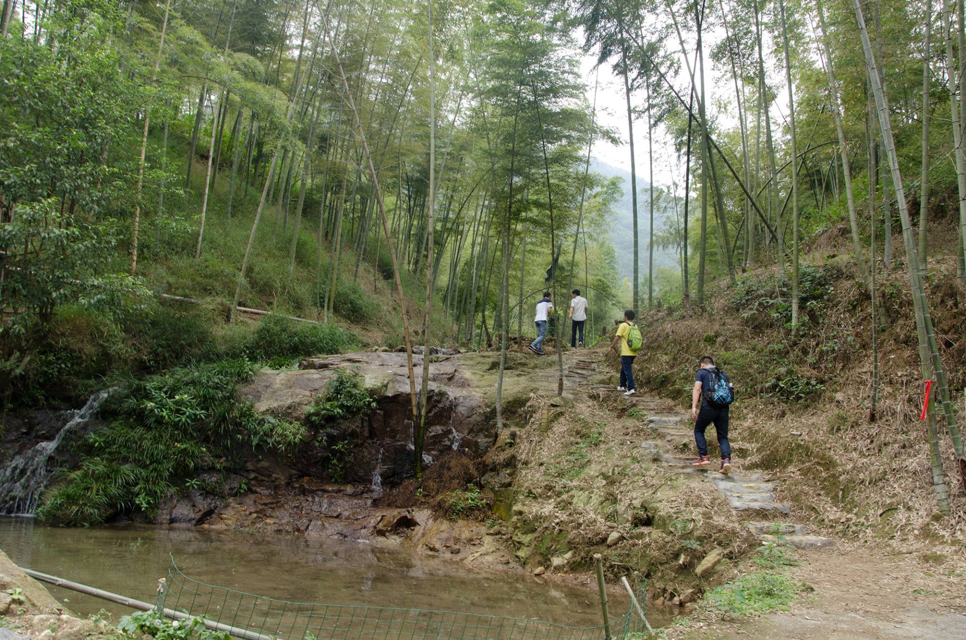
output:
M591 382L600 378L602 360L603 354L596 351L568 352L564 363L569 391L611 393L612 387ZM776 499L780 479L742 470L740 461L728 476L714 469L691 468L688 463L693 460L694 441L691 423L683 412L668 412L667 402L646 393L626 401L646 411L647 422L659 434L642 443L642 448L682 476L713 483L725 495L735 517L759 538L774 539L769 536L769 525L781 518L782 540L800 549L796 556L801 564L790 567L789 576L813 590L810 595L798 596L789 612L751 621L698 623L691 630L670 631L671 637L966 638L966 559L890 554L869 545L810 536L805 526L785 515L788 506Z

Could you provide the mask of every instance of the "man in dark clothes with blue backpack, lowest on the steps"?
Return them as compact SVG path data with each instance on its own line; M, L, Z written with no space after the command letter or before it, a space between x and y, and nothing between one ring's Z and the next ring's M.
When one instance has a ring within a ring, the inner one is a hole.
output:
M695 374L695 389L691 393L691 417L695 420L695 444L697 445L696 467L711 464L708 456L708 443L704 430L714 423L718 432L718 447L722 451L721 473L731 471L731 445L727 441L728 406L734 400L734 388L727 374L715 366L711 356L701 358L700 368ZM700 398L701 409L697 409Z

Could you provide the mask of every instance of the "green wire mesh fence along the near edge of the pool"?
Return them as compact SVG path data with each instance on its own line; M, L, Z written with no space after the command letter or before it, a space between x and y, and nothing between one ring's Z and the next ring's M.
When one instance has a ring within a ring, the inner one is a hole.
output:
M292 602L256 596L194 580L178 568L173 556L166 583L166 588L158 595L158 609L172 617L204 616L210 626L245 640L606 638L604 625L557 625L526 618L456 611ZM641 595L642 590L638 591ZM639 597L639 602L642 604L644 600ZM611 613L611 636L645 637L644 623L633 607L624 613Z

